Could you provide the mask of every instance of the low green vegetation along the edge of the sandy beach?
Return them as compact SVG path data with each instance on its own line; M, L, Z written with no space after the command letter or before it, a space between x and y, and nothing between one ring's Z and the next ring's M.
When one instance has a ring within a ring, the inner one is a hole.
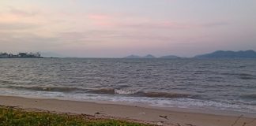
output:
M143 126L124 120L89 119L83 115L27 112L0 106L0 126Z

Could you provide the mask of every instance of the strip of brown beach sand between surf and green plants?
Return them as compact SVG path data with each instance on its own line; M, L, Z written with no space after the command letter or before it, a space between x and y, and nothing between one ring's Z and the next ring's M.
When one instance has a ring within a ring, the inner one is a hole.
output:
M254 117L186 112L179 109L157 109L143 106L77 102L58 99L0 96L1 106L15 106L32 111L86 114L97 118L115 118L174 126L256 126ZM246 123L246 124L244 124Z

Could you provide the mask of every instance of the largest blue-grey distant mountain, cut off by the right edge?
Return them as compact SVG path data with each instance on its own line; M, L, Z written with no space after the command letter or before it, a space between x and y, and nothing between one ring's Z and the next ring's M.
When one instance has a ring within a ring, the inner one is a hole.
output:
M211 54L201 54L195 57L196 58L256 58L256 52L254 50L245 50L245 51L217 50Z

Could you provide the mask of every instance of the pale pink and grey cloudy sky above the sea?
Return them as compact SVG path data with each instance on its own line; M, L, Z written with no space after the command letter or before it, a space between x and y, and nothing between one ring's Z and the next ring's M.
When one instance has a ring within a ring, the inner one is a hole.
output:
M256 1L1 0L0 45L66 57L256 50Z

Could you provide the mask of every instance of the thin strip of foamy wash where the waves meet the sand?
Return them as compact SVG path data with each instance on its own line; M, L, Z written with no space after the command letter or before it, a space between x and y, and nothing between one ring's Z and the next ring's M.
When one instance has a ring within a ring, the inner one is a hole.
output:
M110 105L120 105L120 106L140 106L148 109L161 109L170 110L177 112L189 112L189 113L202 113L202 114L213 114L222 116L238 116L243 115L244 117L254 118L256 113L243 112L243 111L232 111L227 109L202 109L202 108L189 108L189 107L177 107L177 106L153 106L143 102L120 102L120 101L105 101L96 99L80 99L80 98L65 98L65 97L46 97L46 96L32 96L32 95L0 95L5 97L18 97L18 98L29 98L29 99L44 99L44 100L60 100L60 101L70 101L70 102L92 102L96 104L110 104Z

